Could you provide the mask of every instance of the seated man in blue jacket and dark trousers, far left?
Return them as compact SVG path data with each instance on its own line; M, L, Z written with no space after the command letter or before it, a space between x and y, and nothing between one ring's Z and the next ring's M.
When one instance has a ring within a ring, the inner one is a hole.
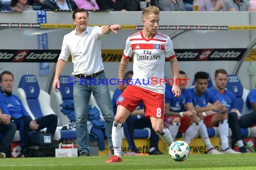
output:
M46 115L32 120L21 99L12 93L13 80L13 73L9 71L4 71L0 74L0 108L4 114L11 116L11 121L20 130L22 157L29 157L27 150L29 131L40 131L47 127L46 132L50 133L53 137L58 119L56 115Z

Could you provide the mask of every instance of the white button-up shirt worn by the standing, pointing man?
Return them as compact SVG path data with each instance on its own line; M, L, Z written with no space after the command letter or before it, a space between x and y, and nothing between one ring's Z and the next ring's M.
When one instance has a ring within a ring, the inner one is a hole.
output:
M99 26L88 26L81 35L75 29L64 36L58 59L67 61L71 55L74 63L72 75L100 72L104 70L101 51L101 39L104 36Z

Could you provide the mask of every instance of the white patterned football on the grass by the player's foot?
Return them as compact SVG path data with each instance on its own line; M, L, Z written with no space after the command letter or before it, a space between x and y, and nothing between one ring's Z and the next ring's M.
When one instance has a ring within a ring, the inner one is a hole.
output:
M190 147L181 140L177 140L170 145L169 155L174 161L185 161L189 157Z

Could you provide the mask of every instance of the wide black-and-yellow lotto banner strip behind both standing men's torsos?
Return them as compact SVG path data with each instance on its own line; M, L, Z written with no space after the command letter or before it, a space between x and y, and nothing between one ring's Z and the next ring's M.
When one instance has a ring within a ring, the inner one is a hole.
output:
M220 49L176 49L178 61L238 61L245 48ZM124 50L102 50L104 62L120 62ZM57 62L60 50L0 50L1 62ZM248 54L245 61L256 60L256 49ZM69 60L70 61L70 60ZM130 60L132 62L132 59Z

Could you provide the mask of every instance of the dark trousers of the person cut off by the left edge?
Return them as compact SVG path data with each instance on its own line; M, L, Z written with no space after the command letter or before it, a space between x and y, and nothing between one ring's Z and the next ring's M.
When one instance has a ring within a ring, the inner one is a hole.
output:
M16 129L16 124L12 122L7 125L0 124L0 132L2 133L2 139L0 140L0 152L5 153L7 157L11 156L11 143L13 141Z

